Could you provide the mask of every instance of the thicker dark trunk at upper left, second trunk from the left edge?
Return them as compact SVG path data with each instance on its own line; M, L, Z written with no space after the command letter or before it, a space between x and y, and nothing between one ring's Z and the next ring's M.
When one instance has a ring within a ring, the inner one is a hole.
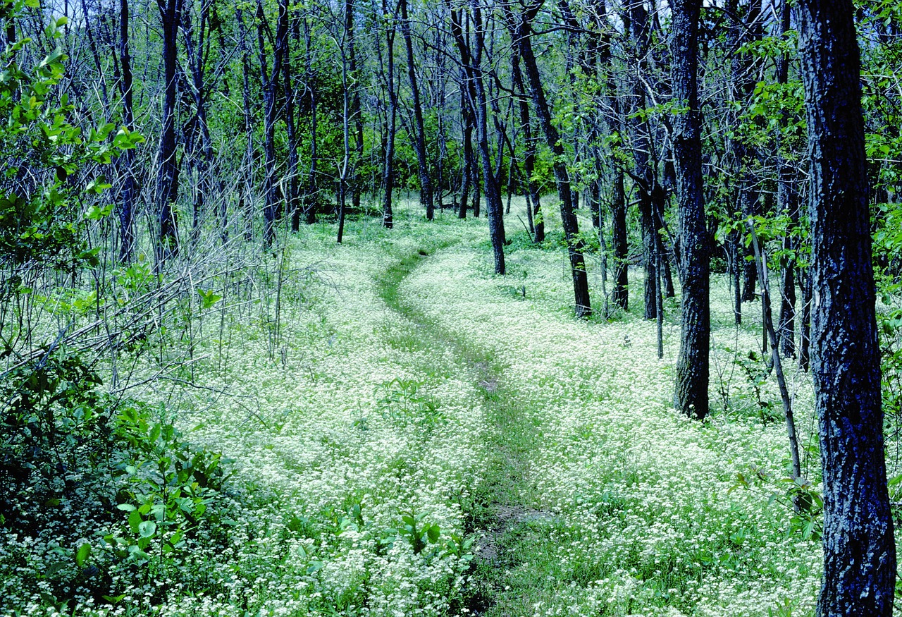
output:
M175 115L179 82L177 36L181 22L181 0L157 0L163 26L163 119L160 139L160 170L157 173L157 221L160 242L157 262L179 252L179 234L173 206L179 196L179 159L176 156Z

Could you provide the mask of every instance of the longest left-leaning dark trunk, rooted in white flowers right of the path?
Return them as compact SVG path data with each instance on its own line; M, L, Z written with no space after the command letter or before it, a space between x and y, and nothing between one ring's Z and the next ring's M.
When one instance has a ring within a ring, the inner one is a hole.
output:
M570 176L567 173L563 161L564 146L561 145L560 134L551 122L551 109L548 99L545 97L545 89L542 87L541 77L538 73L536 56L532 51L532 25L531 22L541 8L541 3L533 5L523 14L508 14L508 28L511 37L517 41L520 58L523 61L523 69L526 72L529 92L532 95L532 103L538 115L538 124L545 134L545 141L555 155L553 169L557 182L557 195L560 198L561 224L564 227L567 252L570 256L570 272L573 277L573 290L575 299L575 316L587 318L592 314L592 302L589 299L589 279L585 271L585 259L583 256L584 243L579 237L579 225L573 208L573 196L570 191Z

